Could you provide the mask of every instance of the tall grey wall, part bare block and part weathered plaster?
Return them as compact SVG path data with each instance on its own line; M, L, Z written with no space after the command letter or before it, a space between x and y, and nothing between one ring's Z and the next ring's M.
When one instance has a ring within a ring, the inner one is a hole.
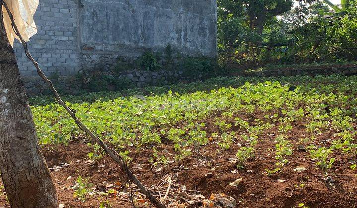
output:
M216 0L40 0L38 33L28 43L48 75L75 75L115 64L119 57L163 51L217 55ZM19 42L23 77L36 76Z

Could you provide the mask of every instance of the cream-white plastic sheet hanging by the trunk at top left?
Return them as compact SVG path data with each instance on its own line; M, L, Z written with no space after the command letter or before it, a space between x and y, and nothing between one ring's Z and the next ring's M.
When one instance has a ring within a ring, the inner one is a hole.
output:
M4 2L14 16L15 24L19 29L22 38L25 41L29 41L30 38L37 33L33 15L36 12L39 0L4 0ZM4 7L2 8L2 12L7 37L12 45L14 39L16 38L19 40L19 38L12 29L10 17Z

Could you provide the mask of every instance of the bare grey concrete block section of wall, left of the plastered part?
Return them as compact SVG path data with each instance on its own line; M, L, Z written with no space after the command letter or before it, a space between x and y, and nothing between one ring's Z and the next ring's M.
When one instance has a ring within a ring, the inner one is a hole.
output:
M28 46L43 71L48 75L56 71L60 76L76 74L80 70L78 1L40 0L34 19L38 32ZM17 40L14 50L22 76L37 75Z

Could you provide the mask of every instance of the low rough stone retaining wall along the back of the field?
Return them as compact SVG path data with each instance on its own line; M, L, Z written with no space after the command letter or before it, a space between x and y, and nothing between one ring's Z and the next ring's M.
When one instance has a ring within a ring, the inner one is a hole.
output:
M106 73L106 72L105 72ZM308 68L308 69L272 69L256 72L241 72L234 76L257 76L257 77L278 77L278 76L295 76L295 75L330 75L330 74L344 74L344 75L357 75L357 65L343 65L343 66L331 66L325 68ZM120 85L122 81L128 81L133 87L144 86L159 86L169 83L188 83L193 81L203 81L209 76L202 73L187 73L184 71L138 71L128 70L120 73L107 73L107 76L112 77ZM87 75L85 75L87 76ZM23 78L25 88L29 95L39 95L49 92L45 83L39 78ZM66 76L52 79L55 86L62 93L67 94L79 94L81 90L88 90L87 84L83 79L79 79L78 76ZM125 82L126 83L126 82ZM108 85L105 90L116 90L115 86Z

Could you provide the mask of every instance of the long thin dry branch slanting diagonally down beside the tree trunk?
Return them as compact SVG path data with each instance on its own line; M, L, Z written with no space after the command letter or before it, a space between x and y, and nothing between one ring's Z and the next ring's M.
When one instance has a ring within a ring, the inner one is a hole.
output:
M121 156L119 154L115 155L104 143L102 140L100 140L97 136L95 136L75 115L75 113L63 102L63 100L60 98L60 95L57 93L57 90L54 88L52 82L46 77L46 75L42 72L41 68L39 67L38 63L34 60L34 58L32 57L31 53L28 50L28 46L27 43L24 41L24 39L22 38L16 24L13 18L13 15L10 11L10 9L8 8L7 4L3 1L3 5L6 8L8 15L11 19L12 22L12 27L16 33L16 35L20 38L22 46L25 49L25 53L28 59L31 60L31 62L33 63L33 65L36 67L37 73L38 75L47 83L47 85L49 86L49 88L51 89L51 91L53 92L56 100L59 102L60 105L62 105L65 110L69 113L69 115L74 119L74 122L77 124L77 126L83 130L84 132L86 132L96 143L98 143L98 145L100 145L105 153L110 156L115 162L117 162L120 167L126 172L128 178L135 183L138 188L140 189L140 191L146 195L146 197L154 204L156 205L158 208L166 208L165 205L163 205L159 200L157 200L151 193L150 190L148 190L145 186L142 185L142 183L139 181L139 179L132 173L132 171L129 169L129 167L126 165L126 162L121 158Z

